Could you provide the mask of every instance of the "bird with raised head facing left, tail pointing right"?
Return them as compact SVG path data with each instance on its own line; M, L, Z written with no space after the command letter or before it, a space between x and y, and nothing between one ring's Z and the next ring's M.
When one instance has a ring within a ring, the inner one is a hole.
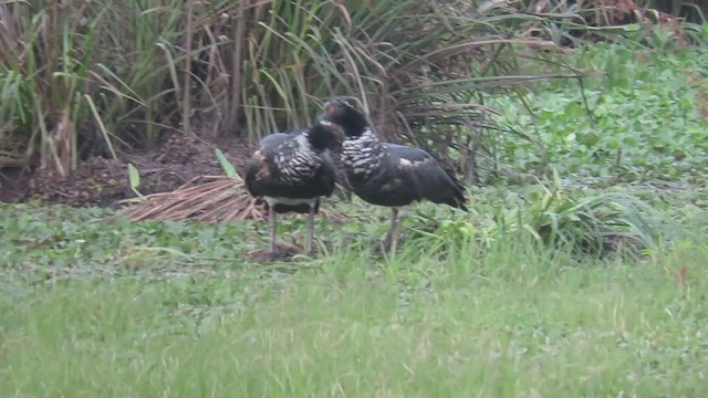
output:
M354 193L391 208L386 250L396 252L403 210L409 205L428 200L468 211L464 187L451 171L424 149L382 142L364 114L347 101L325 101L320 119L344 134L342 164Z

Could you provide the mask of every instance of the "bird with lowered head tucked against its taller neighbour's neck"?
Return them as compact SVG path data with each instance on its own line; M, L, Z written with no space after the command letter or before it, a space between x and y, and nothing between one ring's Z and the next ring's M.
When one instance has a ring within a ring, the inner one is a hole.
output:
M264 200L268 209L269 255L278 258L278 214L306 213L305 253L313 253L314 218L321 197L330 197L335 186L335 168L330 149L337 143L329 122L291 133L263 137L248 160L244 182L248 192Z

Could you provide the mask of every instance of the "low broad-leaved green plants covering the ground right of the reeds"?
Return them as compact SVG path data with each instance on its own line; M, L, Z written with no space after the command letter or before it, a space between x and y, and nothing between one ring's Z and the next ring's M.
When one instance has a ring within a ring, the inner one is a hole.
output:
M531 142L503 134L493 142L496 160L519 171L545 164L580 185L698 181L708 156L700 77L707 56L702 49L659 55L617 44L580 52L577 67L602 72L584 80L583 92L549 83L525 94L528 108L504 96L488 102L504 109L501 125L535 132L545 148L541 157Z

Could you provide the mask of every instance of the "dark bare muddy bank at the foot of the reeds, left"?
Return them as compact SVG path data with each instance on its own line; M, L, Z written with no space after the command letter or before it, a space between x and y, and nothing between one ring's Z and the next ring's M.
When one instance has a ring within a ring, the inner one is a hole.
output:
M222 176L217 160L219 148L240 172L252 150L243 139L207 140L198 136L171 134L155 149L122 154L118 159L92 157L62 178L52 169L0 170L0 201L42 200L72 206L114 207L134 198L127 174L132 163L140 175L143 195L171 191L197 176Z

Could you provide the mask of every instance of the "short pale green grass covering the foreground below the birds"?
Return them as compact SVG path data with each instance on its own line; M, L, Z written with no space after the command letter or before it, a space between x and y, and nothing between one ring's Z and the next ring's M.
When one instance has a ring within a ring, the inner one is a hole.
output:
M4 221L0 238L3 396L708 392L706 239L634 262L577 261L513 237L450 245L442 260L418 238L395 261L325 240L330 254L280 266L243 260L243 247L264 244L262 223L0 212L31 214ZM365 223L319 231L381 238Z

